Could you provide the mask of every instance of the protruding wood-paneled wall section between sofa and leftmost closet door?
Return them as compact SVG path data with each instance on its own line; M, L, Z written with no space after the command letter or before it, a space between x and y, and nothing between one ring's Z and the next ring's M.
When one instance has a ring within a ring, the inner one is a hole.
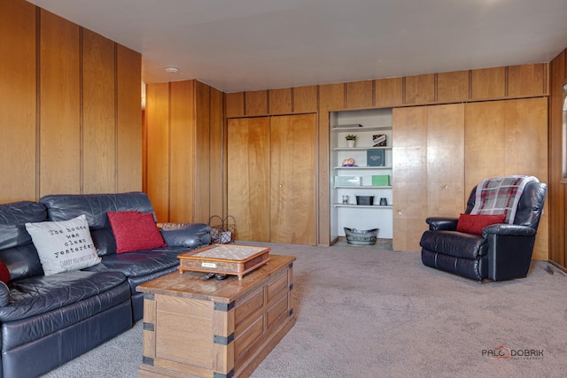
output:
M148 84L145 182L161 222L204 222L226 212L222 92L200 81Z

